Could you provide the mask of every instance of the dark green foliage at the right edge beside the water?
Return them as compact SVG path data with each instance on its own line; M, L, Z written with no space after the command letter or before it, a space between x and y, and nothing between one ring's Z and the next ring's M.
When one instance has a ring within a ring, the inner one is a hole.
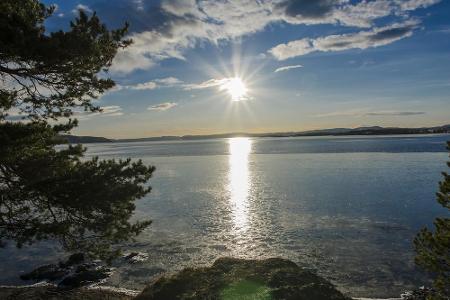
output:
M450 142L447 143L450 150ZM450 167L450 162L447 163ZM437 201L450 212L450 175L442 173L444 180L439 183ZM429 271L434 277L436 295L430 299L449 299L450 297L450 218L436 218L434 231L423 228L414 245L417 256L416 263Z

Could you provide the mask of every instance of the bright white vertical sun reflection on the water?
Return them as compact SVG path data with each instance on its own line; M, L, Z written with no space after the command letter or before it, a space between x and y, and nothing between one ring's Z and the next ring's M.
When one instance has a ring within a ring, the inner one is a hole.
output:
M228 145L230 153L228 191L233 223L236 231L246 231L250 192L248 158L252 150L252 140L244 137L231 138Z

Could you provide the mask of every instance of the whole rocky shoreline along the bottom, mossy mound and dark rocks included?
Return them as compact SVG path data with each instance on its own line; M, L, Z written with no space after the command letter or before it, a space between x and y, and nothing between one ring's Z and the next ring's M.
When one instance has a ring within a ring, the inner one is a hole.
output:
M146 257L139 253L130 253L122 259L137 263ZM84 255L74 254L64 262L41 266L21 276L24 280L43 283L0 286L0 299L352 300L324 278L281 258L220 258L211 267L187 268L173 276L160 277L143 291L99 285L111 272L113 268L96 261L86 262ZM430 289L421 288L404 293L399 298L384 300L425 300L426 295L431 292Z

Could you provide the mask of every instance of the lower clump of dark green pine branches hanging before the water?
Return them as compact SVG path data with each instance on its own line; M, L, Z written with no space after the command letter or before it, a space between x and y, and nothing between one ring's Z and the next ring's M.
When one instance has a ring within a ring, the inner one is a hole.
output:
M0 126L0 236L20 247L57 238L67 249L105 254L109 244L138 234L134 200L153 167L141 161L81 161L81 145L55 150L54 128L43 123ZM103 253L105 252L105 253Z

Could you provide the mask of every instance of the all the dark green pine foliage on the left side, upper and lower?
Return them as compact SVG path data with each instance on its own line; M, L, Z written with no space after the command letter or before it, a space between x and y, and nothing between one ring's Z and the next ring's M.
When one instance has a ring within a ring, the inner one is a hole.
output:
M57 239L69 251L108 258L112 245L150 224L129 219L134 201L150 192L154 167L88 160L81 145L56 147L77 121L48 120L99 110L92 99L114 82L98 74L130 41L126 27L108 31L83 12L69 31L48 34L52 12L36 0L0 2L0 243ZM8 121L11 111L23 120Z

